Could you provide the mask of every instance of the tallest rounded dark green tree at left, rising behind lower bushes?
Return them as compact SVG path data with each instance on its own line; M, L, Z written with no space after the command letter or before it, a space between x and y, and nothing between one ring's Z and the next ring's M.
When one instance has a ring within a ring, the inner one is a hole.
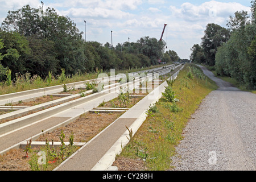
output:
M2 23L2 28L6 31L15 30L26 37L33 36L34 39L47 39L47 41L54 42L56 59L59 60L60 67L64 68L68 74L76 73L78 69L85 71L83 69L85 55L81 40L82 32L79 32L70 18L58 15L54 9L48 7L43 16L40 16L39 9L31 8L29 5L16 11L9 11ZM43 40L37 42L43 42ZM52 44L52 42L47 43ZM49 45L49 47L52 46ZM56 65L55 59L53 62ZM35 63L40 63L40 61L35 61ZM38 65L35 67L38 68ZM13 71L16 72L16 70ZM60 69L58 72L60 73Z

